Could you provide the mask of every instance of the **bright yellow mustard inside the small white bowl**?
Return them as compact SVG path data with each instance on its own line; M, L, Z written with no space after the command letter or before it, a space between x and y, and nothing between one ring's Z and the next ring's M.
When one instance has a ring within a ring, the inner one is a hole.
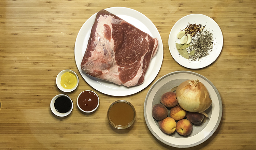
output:
M64 89L72 89L73 87L76 86L76 84L77 84L77 79L76 79L76 76L73 73L65 72L61 76L60 85Z

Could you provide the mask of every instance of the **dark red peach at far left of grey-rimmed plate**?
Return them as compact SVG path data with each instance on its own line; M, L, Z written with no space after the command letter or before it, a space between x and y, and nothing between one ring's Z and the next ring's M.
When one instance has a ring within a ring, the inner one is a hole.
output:
M168 116L168 110L164 105L156 104L152 107L152 116L156 120L165 119Z

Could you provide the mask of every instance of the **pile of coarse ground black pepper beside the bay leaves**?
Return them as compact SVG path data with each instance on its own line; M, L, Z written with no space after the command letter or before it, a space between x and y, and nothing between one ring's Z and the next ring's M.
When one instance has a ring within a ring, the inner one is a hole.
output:
M194 56L189 56L189 60L196 61L205 56L208 56L213 49L213 34L208 30L199 32L190 43L188 51L195 51Z

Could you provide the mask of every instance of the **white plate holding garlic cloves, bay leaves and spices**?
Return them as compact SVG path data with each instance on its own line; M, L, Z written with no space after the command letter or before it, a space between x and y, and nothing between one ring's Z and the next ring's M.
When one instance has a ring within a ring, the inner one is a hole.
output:
M184 30L189 24L201 24L213 34L213 51L210 52L210 55L203 57L198 61L189 61L182 57L179 55L175 46L175 43L179 43L177 33L179 33L180 30ZM177 63L190 69L200 69L210 65L218 58L223 46L223 35L221 28L219 28L218 24L212 18L202 14L191 14L181 18L174 24L169 34L168 45L171 55Z

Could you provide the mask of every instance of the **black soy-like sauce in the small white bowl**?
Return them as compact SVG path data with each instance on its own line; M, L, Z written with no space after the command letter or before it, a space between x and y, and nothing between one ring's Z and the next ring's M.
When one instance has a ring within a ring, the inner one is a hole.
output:
M66 96L58 97L54 102L55 109L60 113L68 112L72 107L72 102Z

